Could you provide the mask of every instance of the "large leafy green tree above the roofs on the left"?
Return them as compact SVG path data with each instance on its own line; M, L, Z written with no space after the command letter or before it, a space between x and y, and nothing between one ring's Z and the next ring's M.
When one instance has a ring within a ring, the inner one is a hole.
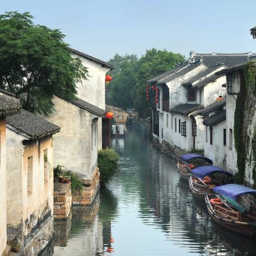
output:
M76 83L87 79L64 37L58 29L34 25L29 12L0 15L0 87L16 94L28 111L51 113L53 95L74 99Z

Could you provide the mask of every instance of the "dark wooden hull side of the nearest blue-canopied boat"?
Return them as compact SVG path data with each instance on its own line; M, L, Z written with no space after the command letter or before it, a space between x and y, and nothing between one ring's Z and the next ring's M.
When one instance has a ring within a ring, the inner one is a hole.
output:
M218 216L218 214L214 212L214 209L210 204L208 195L205 195L205 202L206 202L208 212L211 218L213 218L215 223L233 232L239 233L240 235L249 236L249 237L256 235L255 223L239 222L239 221L231 220L228 218L220 217Z

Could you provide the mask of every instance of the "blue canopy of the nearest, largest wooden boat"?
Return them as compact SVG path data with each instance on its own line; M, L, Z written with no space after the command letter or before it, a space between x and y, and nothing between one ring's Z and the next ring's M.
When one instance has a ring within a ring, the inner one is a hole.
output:
M213 189L215 193L218 193L223 196L227 196L234 200L237 199L238 196L251 194L256 195L256 189L245 187L238 184L227 184L223 186L218 186Z

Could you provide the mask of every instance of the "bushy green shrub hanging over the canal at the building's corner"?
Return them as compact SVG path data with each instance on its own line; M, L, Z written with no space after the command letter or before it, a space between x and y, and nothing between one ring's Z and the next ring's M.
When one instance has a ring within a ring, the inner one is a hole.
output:
M101 149L98 152L98 166L100 169L100 184L107 186L109 179L117 170L119 155L114 149Z

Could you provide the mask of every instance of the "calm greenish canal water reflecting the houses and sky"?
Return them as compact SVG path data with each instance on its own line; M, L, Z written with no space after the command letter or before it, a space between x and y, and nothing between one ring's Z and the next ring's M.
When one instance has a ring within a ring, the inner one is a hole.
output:
M256 241L214 224L180 180L173 158L153 147L145 129L112 140L119 170L91 206L55 222L57 255L256 255Z

